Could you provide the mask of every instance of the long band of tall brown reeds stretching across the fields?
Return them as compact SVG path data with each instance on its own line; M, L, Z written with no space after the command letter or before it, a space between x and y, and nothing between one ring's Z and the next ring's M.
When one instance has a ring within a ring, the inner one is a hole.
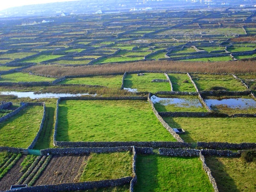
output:
M199 73L234 73L255 74L256 61L220 61L220 62L188 62L188 61L139 61L124 64L104 64L78 67L61 67L57 65L37 65L28 70L44 75L68 76L87 74L108 74L137 70L162 70Z

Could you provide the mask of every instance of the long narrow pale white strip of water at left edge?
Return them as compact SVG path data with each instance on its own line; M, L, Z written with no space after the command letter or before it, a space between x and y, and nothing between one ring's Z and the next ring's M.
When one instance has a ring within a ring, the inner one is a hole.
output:
M92 95L96 96L96 94L89 94L89 93L40 93L35 94L34 92L0 92L0 95L15 95L18 98L21 97L29 97L30 99L40 99L40 98L59 98L59 97L75 97L75 96L83 96L83 95Z

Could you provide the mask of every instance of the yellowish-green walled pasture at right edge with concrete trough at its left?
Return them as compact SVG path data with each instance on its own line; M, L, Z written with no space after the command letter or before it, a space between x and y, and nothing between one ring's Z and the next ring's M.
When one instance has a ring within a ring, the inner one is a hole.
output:
M172 128L182 128L180 137L186 142L217 141L229 143L255 142L256 119L246 117L164 117Z

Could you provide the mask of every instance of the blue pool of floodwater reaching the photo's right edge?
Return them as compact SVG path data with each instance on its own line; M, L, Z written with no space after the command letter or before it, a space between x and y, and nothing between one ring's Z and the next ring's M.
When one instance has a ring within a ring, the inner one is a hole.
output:
M248 108L256 108L256 101L253 99L245 99L245 98L236 98L236 99L206 99L205 103L212 109L214 106L225 105L231 109L248 109Z

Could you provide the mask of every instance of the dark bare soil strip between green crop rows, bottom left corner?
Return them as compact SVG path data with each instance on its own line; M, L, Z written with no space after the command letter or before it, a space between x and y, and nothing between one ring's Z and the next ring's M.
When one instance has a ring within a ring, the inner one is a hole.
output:
M26 158L25 155L23 155L19 161L10 169L4 177L0 180L0 190L8 190L11 188L11 185L15 185L15 183L20 179L20 177L23 175L21 170L20 164L22 161Z

